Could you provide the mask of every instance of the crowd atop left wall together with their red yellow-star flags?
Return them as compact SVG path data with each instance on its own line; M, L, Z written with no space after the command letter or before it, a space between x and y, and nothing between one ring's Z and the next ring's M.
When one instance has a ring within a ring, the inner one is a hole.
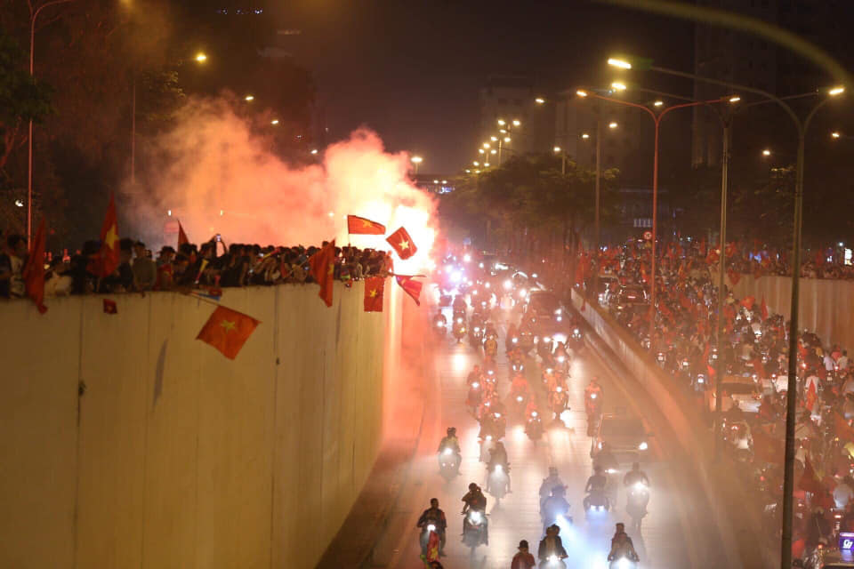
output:
M355 215L347 216L350 235L384 235L385 226ZM190 243L178 223L177 249L165 245L157 259L140 241L119 235L116 204L110 196L97 241L88 241L80 251L53 256L45 251L47 227L39 224L27 246L20 235L6 238L0 252L0 298L28 297L44 314L45 299L66 294L116 294L174 291L218 303L222 288L272 284L318 284L318 296L333 305L334 282L350 288L365 281L365 311L383 311L385 279L394 276L401 289L420 305L422 283L413 275L393 271L391 252L335 245L334 239L320 247L230 244L219 235L203 244ZM417 246L406 228L386 237L400 260L412 257ZM107 314L119 312L119 302L103 299ZM234 359L260 321L236 310L218 306L197 335Z

